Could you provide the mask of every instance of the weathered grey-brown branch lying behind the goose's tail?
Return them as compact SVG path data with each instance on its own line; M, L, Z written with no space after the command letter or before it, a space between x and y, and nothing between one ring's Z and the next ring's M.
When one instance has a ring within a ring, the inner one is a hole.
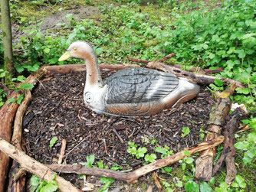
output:
M172 66L166 65L164 63L149 62L149 63L147 63L146 67L153 68L156 70L162 70L167 73L172 73L178 77L184 77L188 80L191 80L194 83L208 85L208 84L214 83L215 79L219 79L219 80L222 80L223 83L225 83L226 85L229 85L231 83L236 83L237 87L245 88L245 85L243 85L243 83L241 83L240 81L237 81L237 80L231 80L231 79L228 79L225 77L208 76L208 75L202 75L202 74L198 74L198 73L191 73L189 71L178 69L176 67L172 67Z

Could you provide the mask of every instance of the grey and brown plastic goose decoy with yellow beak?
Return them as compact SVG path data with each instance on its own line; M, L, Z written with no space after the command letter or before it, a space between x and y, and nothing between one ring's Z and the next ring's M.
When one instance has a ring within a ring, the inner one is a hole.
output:
M103 82L96 54L84 41L72 43L59 61L71 57L85 61L84 102L100 114L150 116L189 101L199 93L195 83L140 67L119 70Z

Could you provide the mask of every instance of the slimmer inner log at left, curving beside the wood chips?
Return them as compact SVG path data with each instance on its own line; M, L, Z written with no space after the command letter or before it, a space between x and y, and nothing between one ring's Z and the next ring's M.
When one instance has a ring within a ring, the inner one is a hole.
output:
M13 135L11 138L12 145L15 145L15 148L21 149L21 134L22 134L22 119L25 113L25 110L27 109L28 103L31 100L31 93L29 90L25 92L25 98L22 100L21 105L18 107L18 110L16 112L15 116L15 124L13 129ZM13 161L11 166L11 177L9 178L9 185L8 185L8 191L24 191L25 190L25 172L18 171L18 162ZM15 178L12 176L15 174ZM18 175L21 176L21 178L18 178Z

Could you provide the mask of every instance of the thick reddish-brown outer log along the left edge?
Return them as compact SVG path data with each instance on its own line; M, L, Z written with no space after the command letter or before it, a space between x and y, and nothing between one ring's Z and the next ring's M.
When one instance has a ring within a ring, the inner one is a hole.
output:
M44 76L44 72L40 68L36 73L28 76L27 80L24 83L31 83L35 85L38 83L38 80ZM19 83L18 86L21 86L23 83ZM11 96L8 99L18 99L19 92L14 91L11 93ZM18 109L18 103L5 103L0 110L0 137L10 142L11 140L11 124L15 117L15 112ZM9 158L0 151L0 191L5 191L5 179L8 173L8 164Z

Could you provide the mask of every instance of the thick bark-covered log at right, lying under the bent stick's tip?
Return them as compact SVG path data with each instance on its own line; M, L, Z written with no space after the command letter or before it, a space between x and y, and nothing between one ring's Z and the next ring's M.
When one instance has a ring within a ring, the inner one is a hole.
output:
M231 96L235 91L235 84L232 84L224 92L218 94L217 102L212 107L207 122L208 134L204 142L217 138L222 132L222 126L225 124L225 116L231 109ZM212 164L215 158L216 149L211 148L202 151L199 158L195 161L195 177L203 181L209 181L212 177Z

